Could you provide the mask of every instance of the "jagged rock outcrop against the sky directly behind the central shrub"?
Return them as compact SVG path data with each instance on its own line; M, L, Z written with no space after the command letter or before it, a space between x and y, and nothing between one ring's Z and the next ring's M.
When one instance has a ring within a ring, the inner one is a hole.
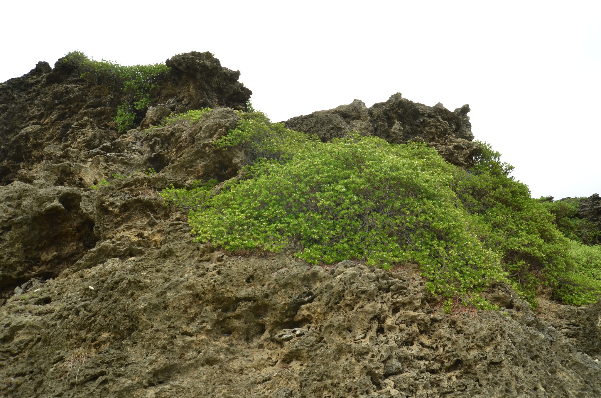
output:
M293 117L286 127L318 135L322 141L347 136L356 130L361 135L375 135L396 144L409 141L427 142L448 162L469 167L473 164L478 145L469 123L469 106L451 112L441 103L426 106L401 97L400 93L388 101L367 108L354 100L329 111Z

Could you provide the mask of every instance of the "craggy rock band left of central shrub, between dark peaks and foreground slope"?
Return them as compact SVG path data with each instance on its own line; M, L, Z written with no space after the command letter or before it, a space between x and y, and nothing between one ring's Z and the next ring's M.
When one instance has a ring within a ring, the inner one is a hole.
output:
M88 151L93 158L83 164L22 171L31 184L16 181L0 188L0 293L10 295L34 277L53 278L67 268L153 247L157 219L168 214L156 190L230 179L246 164L242 150L213 145L238 119L232 109L216 108L193 127L130 130ZM149 168L156 173L142 173ZM111 196L104 197L106 192ZM130 210L140 206L148 209L133 215Z

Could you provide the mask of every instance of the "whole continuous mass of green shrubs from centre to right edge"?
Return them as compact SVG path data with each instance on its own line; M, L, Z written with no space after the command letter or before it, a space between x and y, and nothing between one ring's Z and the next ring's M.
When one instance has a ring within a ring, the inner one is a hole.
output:
M198 241L233 252L300 247L312 264L418 263L445 310L454 300L493 308L481 293L494 281L533 307L545 286L566 304L601 296L601 248L558 228L557 213L489 145L463 170L425 144L353 133L322 143L252 108L239 115L216 145L245 148L252 164L220 189L197 182L161 193L189 210Z

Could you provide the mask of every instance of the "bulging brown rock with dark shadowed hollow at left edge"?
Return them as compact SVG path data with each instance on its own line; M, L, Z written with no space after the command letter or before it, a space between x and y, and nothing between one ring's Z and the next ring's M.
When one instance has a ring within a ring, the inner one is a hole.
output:
M94 248L94 222L81 200L79 189L63 186L16 181L0 189L0 293L32 278L54 278Z

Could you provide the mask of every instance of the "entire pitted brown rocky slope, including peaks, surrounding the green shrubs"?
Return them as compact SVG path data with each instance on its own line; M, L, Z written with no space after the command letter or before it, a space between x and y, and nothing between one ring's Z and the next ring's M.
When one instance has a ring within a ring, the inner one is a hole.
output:
M251 93L208 53L168 65L140 123L215 108L194 126L120 135L118 100L106 105L106 88L61 62L0 85L1 394L601 396L601 302L534 313L493 286L501 311L445 314L414 265L322 268L192 242L186 213L157 191L236 175L248 154L212 143ZM467 111L395 94L286 123L324 140L421 139L469 165Z

